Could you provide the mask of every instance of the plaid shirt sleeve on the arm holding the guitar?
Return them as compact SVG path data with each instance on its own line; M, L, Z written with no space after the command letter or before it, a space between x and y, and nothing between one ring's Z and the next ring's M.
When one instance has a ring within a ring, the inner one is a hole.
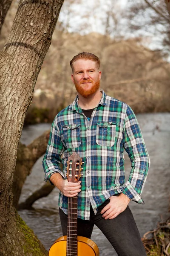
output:
M51 131L50 131L46 153L42 160L42 166L45 172L44 181L47 181L47 180L50 181L51 175L57 172L60 175L62 175L64 179L66 179L65 175L63 174L60 168L61 156L63 151L64 151L64 146L62 144L59 131L57 130L56 118L55 118L51 125Z

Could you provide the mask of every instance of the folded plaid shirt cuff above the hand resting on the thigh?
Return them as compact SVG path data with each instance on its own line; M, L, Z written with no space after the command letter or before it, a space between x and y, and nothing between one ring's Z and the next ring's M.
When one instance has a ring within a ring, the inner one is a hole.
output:
M122 193L127 195L130 200L135 201L138 204L144 204L141 196L136 192L136 190L133 188L128 180L124 184L124 190L122 191Z

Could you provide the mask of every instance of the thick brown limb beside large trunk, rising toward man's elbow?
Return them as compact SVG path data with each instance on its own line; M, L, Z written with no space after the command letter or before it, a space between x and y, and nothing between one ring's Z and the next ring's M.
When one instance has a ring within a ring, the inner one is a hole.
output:
M12 185L13 204L16 209L26 177L31 174L34 163L45 154L49 134L50 131L45 131L28 146L19 143Z

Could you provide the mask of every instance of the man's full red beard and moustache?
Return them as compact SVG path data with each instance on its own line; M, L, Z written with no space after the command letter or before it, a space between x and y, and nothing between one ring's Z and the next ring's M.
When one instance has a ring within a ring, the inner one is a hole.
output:
M91 84L83 84L83 82L91 82ZM93 80L83 80L80 82L80 84L78 84L75 80L74 80L74 84L76 87L77 92L84 98L87 98L88 96L96 93L96 91L99 89L100 86L100 79L97 79L97 81L93 81Z

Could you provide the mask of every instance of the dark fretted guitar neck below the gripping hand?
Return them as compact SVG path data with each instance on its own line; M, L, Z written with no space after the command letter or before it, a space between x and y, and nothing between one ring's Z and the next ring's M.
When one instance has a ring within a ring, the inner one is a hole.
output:
M77 256L77 196L68 198L66 256Z

